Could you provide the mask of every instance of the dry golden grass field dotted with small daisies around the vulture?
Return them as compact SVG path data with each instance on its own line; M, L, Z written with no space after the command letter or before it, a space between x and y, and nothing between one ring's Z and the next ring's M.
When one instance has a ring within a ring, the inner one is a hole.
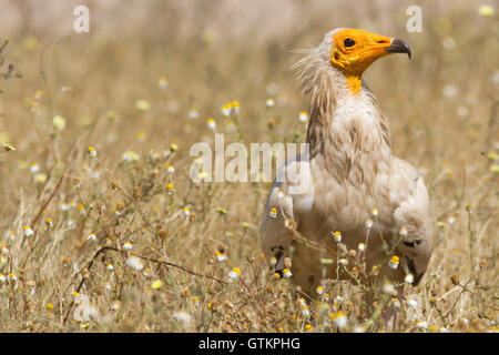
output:
M425 176L436 225L429 271L406 286L418 303L401 305L400 329L497 331L498 17L468 1L421 1L425 32L407 33L414 2L89 1L89 34L72 32L71 1L3 3L0 72L14 69L0 79L0 141L16 150L0 155L0 331L334 332L337 312L347 331L378 331L347 282L306 300L307 315L289 280L268 272L258 245L267 184L189 179L190 146L213 142L210 116L226 143L304 140L307 101L289 50L336 27L400 37L414 52L365 75L394 152ZM224 118L220 108L234 100L241 112ZM227 261L216 260L220 248ZM233 267L241 276L227 283Z

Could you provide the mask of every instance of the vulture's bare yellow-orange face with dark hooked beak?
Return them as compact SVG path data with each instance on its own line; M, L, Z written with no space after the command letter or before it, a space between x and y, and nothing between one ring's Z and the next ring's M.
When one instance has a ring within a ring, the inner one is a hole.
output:
M375 60L390 53L407 53L410 58L404 41L364 30L342 30L333 36L333 44L330 62L346 77L360 78Z

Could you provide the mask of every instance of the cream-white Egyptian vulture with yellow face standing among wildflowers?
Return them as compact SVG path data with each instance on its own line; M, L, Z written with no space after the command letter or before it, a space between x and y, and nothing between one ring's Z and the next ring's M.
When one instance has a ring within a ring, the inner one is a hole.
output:
M276 272L291 258L292 277L309 295L325 278L348 278L346 272L336 275L337 261L348 261L347 251L360 243L364 277L379 264L379 285L385 276L417 285L432 252L424 180L391 154L388 120L361 81L363 72L389 53L410 59L409 45L399 39L336 29L296 64L302 90L312 97L309 149L278 170L261 243ZM335 232L343 247L332 237ZM401 297L403 286L397 291ZM393 308L385 310L391 328L398 321Z

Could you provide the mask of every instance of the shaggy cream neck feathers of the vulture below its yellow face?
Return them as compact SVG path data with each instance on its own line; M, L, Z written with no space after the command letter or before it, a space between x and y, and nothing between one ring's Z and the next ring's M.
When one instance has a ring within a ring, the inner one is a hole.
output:
M317 50L307 52L295 67L302 68L302 91L312 97L307 130L310 159L324 158L325 169L338 180L359 183L365 172L376 174L388 166L388 121L371 92L365 85L353 91L348 78Z

